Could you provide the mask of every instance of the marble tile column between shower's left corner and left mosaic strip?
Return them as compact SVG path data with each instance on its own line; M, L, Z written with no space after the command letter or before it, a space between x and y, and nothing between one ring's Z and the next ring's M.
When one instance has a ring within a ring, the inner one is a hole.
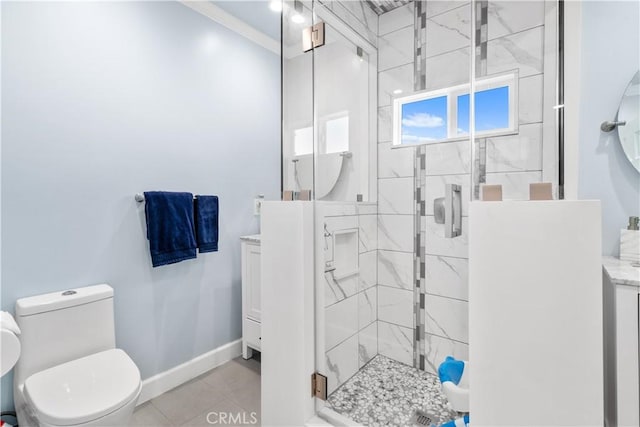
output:
M414 3L378 23L378 352L409 365L414 348L414 148L392 149L394 91L414 90Z

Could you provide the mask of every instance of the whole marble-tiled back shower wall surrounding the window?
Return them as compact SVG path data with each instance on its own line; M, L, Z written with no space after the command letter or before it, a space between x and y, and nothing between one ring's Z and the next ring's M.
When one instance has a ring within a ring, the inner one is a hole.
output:
M413 2L379 19L378 349L430 372L448 354L468 357L470 147L467 140L392 149L393 98L468 82L474 43L478 76L519 72L519 134L478 141L484 179L502 184L506 199L528 198L529 182L542 179L544 2L474 5L473 41L470 2ZM447 183L463 187L463 235L454 239L433 216Z

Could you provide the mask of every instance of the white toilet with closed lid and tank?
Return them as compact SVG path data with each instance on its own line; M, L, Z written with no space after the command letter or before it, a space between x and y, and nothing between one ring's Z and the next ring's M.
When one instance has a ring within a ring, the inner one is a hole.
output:
M14 401L24 427L126 426L140 371L115 348L113 288L95 285L16 302L22 352Z

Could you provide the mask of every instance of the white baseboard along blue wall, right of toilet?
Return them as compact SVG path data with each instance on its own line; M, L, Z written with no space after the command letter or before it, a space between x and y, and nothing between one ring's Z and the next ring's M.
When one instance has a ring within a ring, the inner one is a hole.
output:
M161 372L142 381L142 391L138 405L160 396L172 388L186 383L207 371L228 362L242 354L242 339L211 350L181 365Z

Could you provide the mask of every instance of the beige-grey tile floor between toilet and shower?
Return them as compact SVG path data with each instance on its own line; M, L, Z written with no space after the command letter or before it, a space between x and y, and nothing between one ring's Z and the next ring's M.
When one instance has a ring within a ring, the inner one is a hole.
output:
M223 419L222 414L236 418ZM260 362L233 359L138 406L129 423L131 427L212 425L260 425Z

